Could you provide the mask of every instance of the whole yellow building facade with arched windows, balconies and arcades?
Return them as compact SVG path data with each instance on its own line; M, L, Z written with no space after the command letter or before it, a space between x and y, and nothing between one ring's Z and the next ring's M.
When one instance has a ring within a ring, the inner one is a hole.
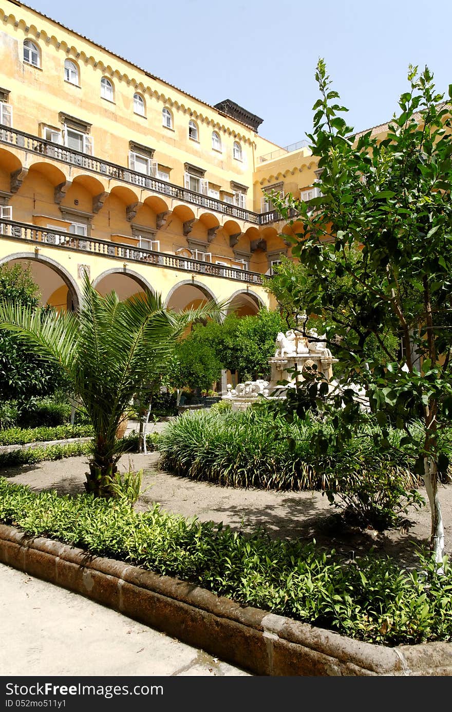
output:
M285 234L264 192L312 197L317 159L262 120L208 105L28 6L0 0L0 263L44 304L77 309L84 273L176 310L272 307L262 287Z

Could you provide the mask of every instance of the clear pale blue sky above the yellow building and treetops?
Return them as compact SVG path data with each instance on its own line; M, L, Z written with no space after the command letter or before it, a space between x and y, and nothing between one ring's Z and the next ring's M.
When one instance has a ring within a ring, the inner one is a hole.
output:
M452 83L451 0L28 4L206 103L236 101L281 146L311 130L319 57L356 130L391 117L409 63L428 65L441 92Z

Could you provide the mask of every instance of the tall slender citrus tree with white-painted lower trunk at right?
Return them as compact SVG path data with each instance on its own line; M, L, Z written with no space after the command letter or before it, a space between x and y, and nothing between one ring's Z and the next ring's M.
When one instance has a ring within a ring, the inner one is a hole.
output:
M452 419L452 139L450 105L428 68L409 68L409 88L383 135L354 134L317 64L320 98L309 135L319 158L320 196L275 199L285 219L298 212L303 231L293 254L303 264L308 315L327 313L327 336L348 379L366 387L387 444L388 409L404 429L401 446L416 452L431 506L431 550L444 553L438 479L448 471L444 433ZM452 87L449 88L449 96ZM286 236L287 237L287 236ZM340 293L331 285L341 284ZM300 326L303 330L303 325ZM334 339L333 339L334 335ZM399 340L399 352L387 337ZM369 358L370 339L380 351ZM342 405L344 392L342 392ZM352 394L340 420L360 417ZM421 429L411 424L421 417Z

